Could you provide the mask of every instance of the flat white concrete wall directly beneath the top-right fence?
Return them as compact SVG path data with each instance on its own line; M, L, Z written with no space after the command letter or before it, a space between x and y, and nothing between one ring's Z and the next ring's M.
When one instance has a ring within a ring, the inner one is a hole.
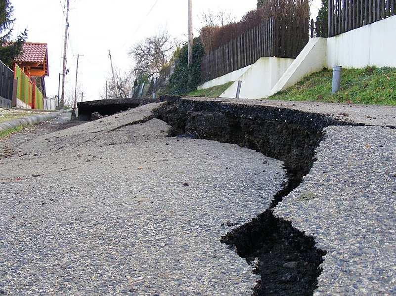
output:
M327 67L396 67L396 16L327 39Z

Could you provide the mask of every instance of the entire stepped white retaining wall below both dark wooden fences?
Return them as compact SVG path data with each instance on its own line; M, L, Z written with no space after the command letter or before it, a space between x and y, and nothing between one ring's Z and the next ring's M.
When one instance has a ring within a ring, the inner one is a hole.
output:
M235 81L220 97L268 97L295 85L304 77L333 66L396 67L396 16L391 16L332 38L313 38L294 59L260 58L255 64L209 81L199 89ZM238 76L241 71L242 75Z

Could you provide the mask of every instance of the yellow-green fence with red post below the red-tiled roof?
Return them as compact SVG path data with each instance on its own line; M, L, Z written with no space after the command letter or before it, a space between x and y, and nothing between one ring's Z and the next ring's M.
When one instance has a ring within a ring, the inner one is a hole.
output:
M32 109L43 109L43 93L17 64L15 64L14 79L17 81L16 98Z

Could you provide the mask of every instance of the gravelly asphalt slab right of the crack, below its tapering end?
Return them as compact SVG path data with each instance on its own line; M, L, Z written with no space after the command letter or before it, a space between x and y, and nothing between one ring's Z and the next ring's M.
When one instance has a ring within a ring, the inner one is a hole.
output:
M314 295L396 295L396 130L325 131L310 173L274 213L327 251Z

